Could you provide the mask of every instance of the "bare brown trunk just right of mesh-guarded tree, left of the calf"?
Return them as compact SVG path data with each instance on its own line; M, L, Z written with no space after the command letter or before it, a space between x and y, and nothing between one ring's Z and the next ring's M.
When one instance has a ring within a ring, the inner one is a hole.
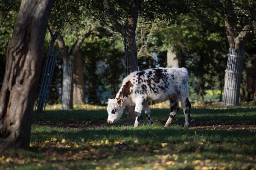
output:
M76 60L74 61L74 72L73 72L73 104L85 104L84 95L84 72L83 72L83 56L81 51L76 55Z

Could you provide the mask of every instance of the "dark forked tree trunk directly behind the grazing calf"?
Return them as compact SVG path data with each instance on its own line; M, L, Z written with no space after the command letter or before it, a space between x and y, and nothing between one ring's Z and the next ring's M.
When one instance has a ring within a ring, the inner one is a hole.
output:
M127 51L125 51L126 53L125 56L127 56L127 66L128 66L126 75L128 75L131 72L138 70L135 32L136 32L138 12L139 12L139 0L129 0L128 16L124 26L118 22L116 15L111 9L109 0L104 0L103 5L112 26L114 27L114 29L116 29L116 31L121 33L123 39L125 40L124 46L127 44ZM134 107L128 107L128 113L129 114L127 114L126 116L127 123L132 124L136 117L136 115L134 114Z

